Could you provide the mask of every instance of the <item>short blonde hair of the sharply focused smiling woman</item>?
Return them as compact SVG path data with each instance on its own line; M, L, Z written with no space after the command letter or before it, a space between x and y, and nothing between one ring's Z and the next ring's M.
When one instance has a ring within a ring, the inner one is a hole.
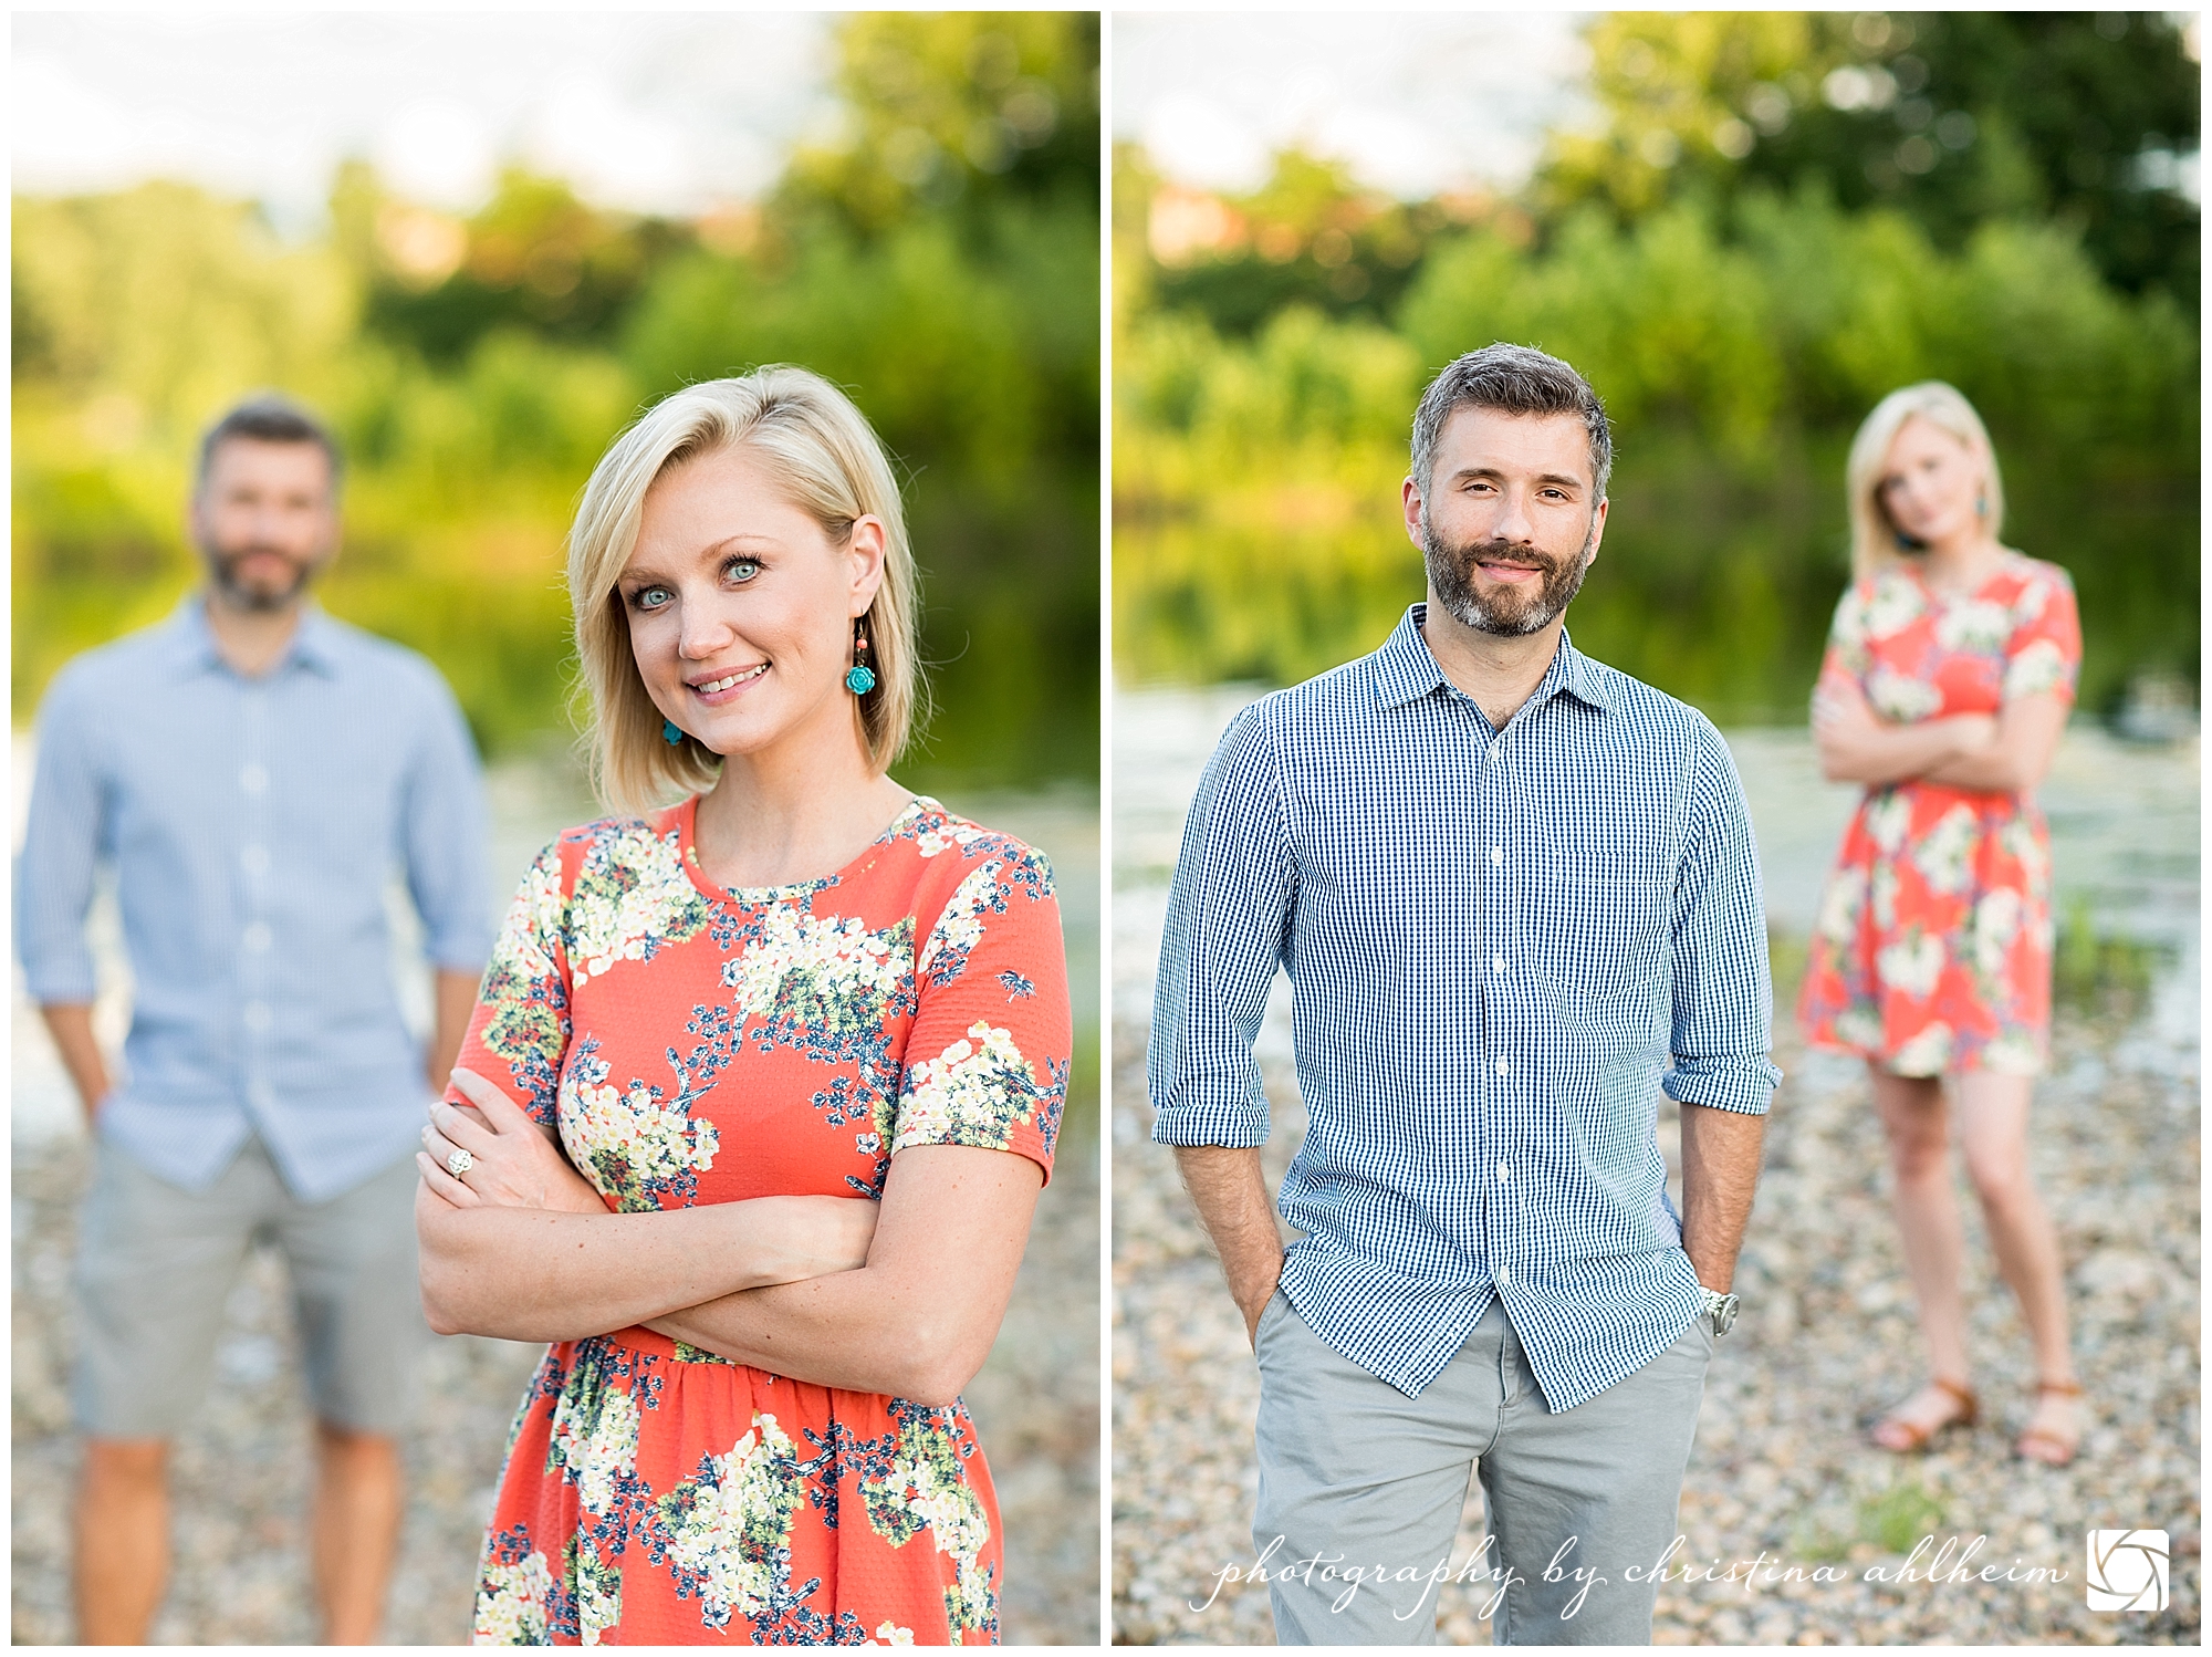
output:
M721 757L697 737L664 741L661 710L630 653L630 624L615 584L637 549L646 491L670 467L721 449L757 456L792 504L843 544L860 518L883 522L883 586L867 606L876 688L860 697L869 763L889 770L907 746L922 686L916 661L920 611L914 551L898 480L867 416L821 374L768 365L675 392L615 438L584 484L568 529L568 602L575 650L591 695L593 772L599 794L644 810L670 794L712 788Z

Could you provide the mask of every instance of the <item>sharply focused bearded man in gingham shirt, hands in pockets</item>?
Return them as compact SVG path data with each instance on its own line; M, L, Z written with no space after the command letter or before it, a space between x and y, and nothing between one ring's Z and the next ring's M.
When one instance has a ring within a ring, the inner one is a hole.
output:
M1433 1642L1449 1577L1482 1577L1498 1642L1650 1639L1781 1073L1728 748L1566 637L1610 465L1566 363L1438 374L1402 489L1427 604L1245 708L1183 827L1152 1137L1256 1349L1285 1644ZM1310 1113L1287 1250L1252 1060L1276 969Z

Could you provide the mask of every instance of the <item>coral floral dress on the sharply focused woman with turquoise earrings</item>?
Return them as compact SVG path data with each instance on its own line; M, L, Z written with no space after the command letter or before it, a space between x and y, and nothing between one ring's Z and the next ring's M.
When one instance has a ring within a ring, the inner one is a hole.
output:
M695 810L544 850L462 1064L617 1212L880 1197L920 1144L1051 1173L1071 1033L1044 858L916 799L825 880L719 889ZM991 1644L998 1595L964 1407L630 1327L553 1345L522 1398L476 1644Z

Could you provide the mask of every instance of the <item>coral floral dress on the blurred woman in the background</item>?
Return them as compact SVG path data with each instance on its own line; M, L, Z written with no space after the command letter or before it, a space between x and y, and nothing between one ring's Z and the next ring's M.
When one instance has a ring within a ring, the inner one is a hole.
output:
M1969 595L1900 560L1836 606L1823 684L1882 719L2073 699L2081 624L2057 564L2004 553ZM2024 794L1869 788L1814 925L1805 1035L1896 1075L2033 1075L2051 1040L2051 836Z

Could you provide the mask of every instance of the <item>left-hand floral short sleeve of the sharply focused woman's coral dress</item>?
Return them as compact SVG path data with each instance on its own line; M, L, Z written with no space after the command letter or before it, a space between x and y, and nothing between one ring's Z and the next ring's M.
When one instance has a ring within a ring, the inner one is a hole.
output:
M562 845L555 841L540 852L522 876L456 1062L504 1091L546 1128L557 1126L553 1106L573 1031ZM456 1088L447 1088L445 1097L467 1104Z

